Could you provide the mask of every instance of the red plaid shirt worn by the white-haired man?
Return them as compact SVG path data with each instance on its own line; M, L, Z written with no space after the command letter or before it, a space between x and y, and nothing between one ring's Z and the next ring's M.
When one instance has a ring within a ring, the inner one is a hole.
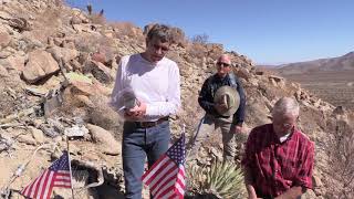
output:
M312 188L314 144L295 129L280 143L272 124L252 129L242 165L251 170L260 195L277 197L294 186Z

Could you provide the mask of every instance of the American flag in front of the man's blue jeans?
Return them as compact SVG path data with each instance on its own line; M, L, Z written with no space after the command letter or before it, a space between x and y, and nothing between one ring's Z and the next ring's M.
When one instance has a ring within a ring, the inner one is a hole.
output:
M185 134L147 170L142 180L154 198L184 198Z

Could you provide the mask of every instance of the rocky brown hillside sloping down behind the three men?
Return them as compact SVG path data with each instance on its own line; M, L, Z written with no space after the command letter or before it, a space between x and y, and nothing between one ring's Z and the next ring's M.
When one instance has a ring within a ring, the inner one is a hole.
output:
M148 25L146 27L146 30ZM145 31L146 31L145 30ZM173 139L186 124L190 137L204 113L197 94L215 72L221 44L191 43L175 28L168 54L181 74L183 108L171 118ZM121 118L107 102L117 62L144 51L144 31L132 23L106 22L103 15L72 9L60 0L0 0L0 188L3 198L17 198L41 169L66 149L75 170L79 198L122 198ZM247 93L250 128L269 123L273 103L294 96L301 104L300 127L315 142L313 191L306 198L353 196L352 113L313 96L236 52L235 73ZM220 136L214 135L198 154L198 164L221 156ZM17 176L17 168L24 171ZM11 196L10 196L11 195ZM70 191L54 195L69 198ZM148 193L145 192L148 197Z

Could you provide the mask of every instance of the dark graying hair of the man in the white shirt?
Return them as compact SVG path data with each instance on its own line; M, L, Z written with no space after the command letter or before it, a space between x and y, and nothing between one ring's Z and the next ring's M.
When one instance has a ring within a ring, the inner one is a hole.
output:
M171 29L165 24L154 24L154 27L147 32L147 40L152 40L153 38L159 39L163 43L173 42Z

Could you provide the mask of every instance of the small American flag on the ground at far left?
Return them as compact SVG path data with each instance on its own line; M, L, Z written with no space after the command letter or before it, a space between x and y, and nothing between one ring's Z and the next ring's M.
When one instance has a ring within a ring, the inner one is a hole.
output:
M71 175L66 151L45 169L41 176L21 190L27 198L49 199L53 187L71 188Z

